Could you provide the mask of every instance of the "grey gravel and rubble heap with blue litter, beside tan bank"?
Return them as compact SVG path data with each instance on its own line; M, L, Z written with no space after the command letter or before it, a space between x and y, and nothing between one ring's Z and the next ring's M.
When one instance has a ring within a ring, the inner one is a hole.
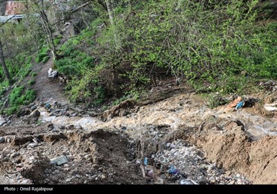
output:
M185 141L166 143L164 148L166 149L149 157L145 165L146 175L152 182L156 182L156 177L159 177L167 184L250 183L242 175L230 171L229 175L226 175L222 168L206 161L201 150Z

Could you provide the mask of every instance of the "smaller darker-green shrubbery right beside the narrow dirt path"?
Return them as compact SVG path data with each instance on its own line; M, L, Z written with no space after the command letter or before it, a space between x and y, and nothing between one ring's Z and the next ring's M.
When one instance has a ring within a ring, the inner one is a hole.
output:
M99 105L107 98L105 87L100 85L100 72L105 69L105 65L95 64L95 58L84 52L84 45L80 46L84 39L86 44L94 44L90 39L96 34L95 29L99 24L99 19L93 21L91 28L83 30L78 37L61 46L64 58L55 62L59 73L69 79L66 94L75 103L91 99L93 104Z

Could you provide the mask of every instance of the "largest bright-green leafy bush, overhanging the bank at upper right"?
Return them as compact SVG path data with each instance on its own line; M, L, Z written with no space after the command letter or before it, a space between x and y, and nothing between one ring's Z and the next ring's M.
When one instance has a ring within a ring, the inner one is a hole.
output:
M277 78L277 22L256 22L258 1L214 1L210 6L197 1L143 2L134 5L136 15L128 20L118 16L115 27L99 38L102 60L123 71L129 89L149 83L162 71L224 93L244 91L242 71L249 80ZM132 12L126 8L124 14Z

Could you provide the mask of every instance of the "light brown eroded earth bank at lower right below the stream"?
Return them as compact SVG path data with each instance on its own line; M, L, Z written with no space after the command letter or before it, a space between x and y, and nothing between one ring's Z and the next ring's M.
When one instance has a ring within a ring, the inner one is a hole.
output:
M238 170L253 184L277 183L277 137L251 142L244 126L235 121L208 119L199 127L180 127L166 137L197 145L218 167Z

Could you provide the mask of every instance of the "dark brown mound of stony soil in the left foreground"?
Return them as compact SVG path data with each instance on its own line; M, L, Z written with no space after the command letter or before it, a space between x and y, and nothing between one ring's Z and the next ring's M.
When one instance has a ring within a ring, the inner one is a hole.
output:
M32 184L145 183L136 165L127 160L127 135L122 132L72 130L30 137L17 137L12 144L17 147L0 144L0 149L4 148L0 157L0 180L1 172L9 170L17 173L6 179L10 184L30 181ZM39 146L26 146L34 139Z

